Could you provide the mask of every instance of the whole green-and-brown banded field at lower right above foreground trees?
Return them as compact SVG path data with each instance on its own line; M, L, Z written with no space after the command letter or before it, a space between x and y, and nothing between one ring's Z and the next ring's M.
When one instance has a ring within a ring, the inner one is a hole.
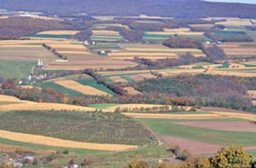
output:
M214 154L218 149L231 144L243 145L246 149L256 148L254 133L256 125L241 119L224 118L221 113L219 113L220 118L167 118L163 115L150 119L152 116L140 114L136 117L141 118L138 120L159 135L162 141L170 146L176 144L183 149L187 148L194 154ZM242 126L237 126L241 123Z

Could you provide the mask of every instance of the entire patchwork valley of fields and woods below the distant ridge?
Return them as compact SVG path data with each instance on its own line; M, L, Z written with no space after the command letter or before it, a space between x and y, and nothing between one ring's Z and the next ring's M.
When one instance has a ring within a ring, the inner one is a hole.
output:
M174 145L256 149L253 20L59 19L62 29L0 41L0 161L17 149L56 156L46 167L119 168L183 163Z

